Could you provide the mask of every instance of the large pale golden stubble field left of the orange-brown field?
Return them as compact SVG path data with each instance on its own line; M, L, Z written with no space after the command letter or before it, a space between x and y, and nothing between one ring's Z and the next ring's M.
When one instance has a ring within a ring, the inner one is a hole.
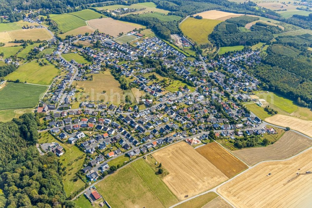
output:
M228 179L216 166L185 142L178 142L153 154L169 174L164 183L179 200L206 191Z

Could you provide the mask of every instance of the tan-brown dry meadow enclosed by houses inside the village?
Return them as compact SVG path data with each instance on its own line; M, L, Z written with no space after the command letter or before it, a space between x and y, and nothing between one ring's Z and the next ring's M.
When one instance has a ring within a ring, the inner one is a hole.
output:
M103 74L93 74L93 81L75 81L74 85L76 83L76 89L84 88L84 93L76 93L77 101L103 99L104 102L111 101L115 105L124 101L124 91L109 71L105 71ZM106 93L103 93L103 90Z

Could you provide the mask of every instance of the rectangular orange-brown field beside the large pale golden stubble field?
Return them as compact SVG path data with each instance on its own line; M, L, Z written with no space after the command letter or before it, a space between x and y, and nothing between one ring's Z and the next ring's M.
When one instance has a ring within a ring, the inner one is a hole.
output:
M195 150L229 178L248 168L242 161L225 150L217 142L208 143Z

